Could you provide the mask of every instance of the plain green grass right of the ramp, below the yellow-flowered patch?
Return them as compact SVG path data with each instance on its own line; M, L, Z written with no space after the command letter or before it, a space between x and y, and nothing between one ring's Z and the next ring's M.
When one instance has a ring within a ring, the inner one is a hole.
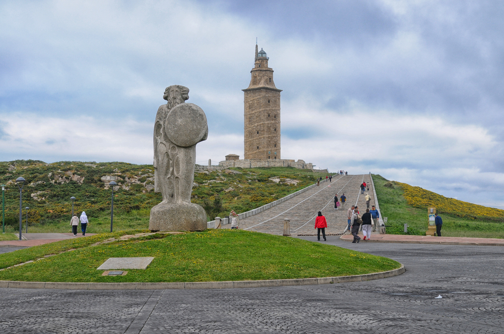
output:
M425 235L427 230L427 208L414 208L406 202L399 186L387 188L388 180L373 175L376 196L383 217L388 217L388 234L404 234L404 224L408 224L408 234ZM495 221L482 221L460 218L450 214L439 214L443 218L443 236L467 236L478 238L504 238L504 224Z

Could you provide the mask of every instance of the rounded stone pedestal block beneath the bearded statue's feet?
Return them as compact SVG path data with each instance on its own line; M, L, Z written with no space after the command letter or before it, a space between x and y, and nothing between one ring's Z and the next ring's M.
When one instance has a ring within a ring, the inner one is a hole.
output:
M151 231L203 231L207 229L207 214L194 203L159 203L151 209Z

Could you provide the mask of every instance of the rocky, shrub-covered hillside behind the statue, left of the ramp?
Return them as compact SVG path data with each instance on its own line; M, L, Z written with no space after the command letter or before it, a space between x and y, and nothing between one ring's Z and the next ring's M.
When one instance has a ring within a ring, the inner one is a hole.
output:
M208 219L225 216L231 209L244 212L277 200L312 183L320 173L294 168L222 169L197 168L192 202L202 205ZM0 184L6 187L6 232L19 229L19 190L15 180L26 179L23 208L29 207L28 232L68 232L74 210L86 211L90 233L106 232L110 225L111 190L115 180L114 230L143 229L150 209L161 202L154 193L154 168L125 162L38 160L0 162ZM26 211L23 210L23 226Z

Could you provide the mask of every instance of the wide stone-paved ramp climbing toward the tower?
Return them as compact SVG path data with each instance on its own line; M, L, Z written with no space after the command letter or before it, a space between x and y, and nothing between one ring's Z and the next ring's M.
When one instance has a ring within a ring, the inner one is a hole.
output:
M326 234L341 233L347 226L347 211L351 205L357 203L360 214L363 214L366 210L364 196L367 193L371 196L370 205L374 204L372 188L360 194L362 181L370 183L369 174L335 175L332 182L324 180L320 187L313 187L257 215L240 219L240 228L281 235L284 219L288 218L292 235L313 234L316 233L313 228L315 217L318 211L322 211L327 220ZM343 193L347 202L339 210L334 210L334 195L338 194L339 198Z

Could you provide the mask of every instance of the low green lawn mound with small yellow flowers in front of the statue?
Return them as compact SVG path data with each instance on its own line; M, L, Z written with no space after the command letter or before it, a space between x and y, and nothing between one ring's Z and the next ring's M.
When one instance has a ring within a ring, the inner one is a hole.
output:
M0 280L41 282L203 282L359 275L400 267L396 261L345 248L243 230L207 230L88 246L110 235L65 240L0 255L3 267L52 257L0 272ZM116 235L116 237L118 234ZM78 243L81 242L81 243ZM154 257L146 270L101 276L114 257Z

